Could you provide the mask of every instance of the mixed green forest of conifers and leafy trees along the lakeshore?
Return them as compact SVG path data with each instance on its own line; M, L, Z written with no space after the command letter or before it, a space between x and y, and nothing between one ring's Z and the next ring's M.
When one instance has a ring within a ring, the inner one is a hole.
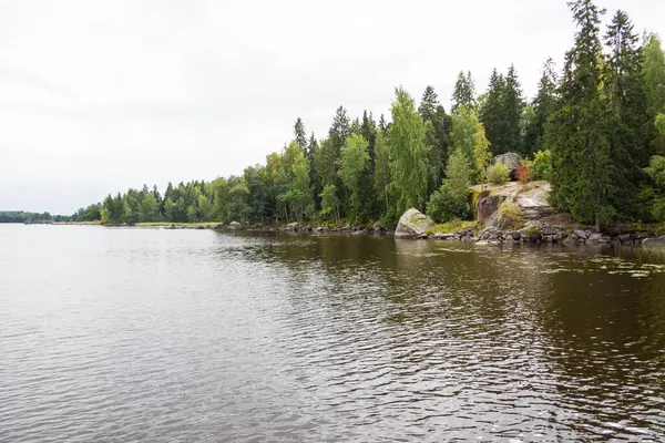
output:
M665 53L656 33L592 0L569 3L574 45L559 69L544 61L524 97L513 65L480 93L460 72L447 112L433 87L420 102L395 90L387 117L339 106L325 137L301 119L294 140L242 175L109 195L75 220L104 224L289 222L393 226L408 208L436 222L472 216L470 186L505 179L490 159L520 154L521 179L545 179L552 204L575 222L665 223Z

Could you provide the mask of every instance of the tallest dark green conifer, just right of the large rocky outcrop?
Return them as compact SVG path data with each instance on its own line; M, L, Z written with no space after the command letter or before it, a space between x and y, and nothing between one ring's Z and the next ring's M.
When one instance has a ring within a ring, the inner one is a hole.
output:
M575 45L566 53L561 103L552 115L548 146L552 151L552 199L582 223L608 222L614 208L610 175L606 106L600 94L601 16L592 0L569 3L577 25Z

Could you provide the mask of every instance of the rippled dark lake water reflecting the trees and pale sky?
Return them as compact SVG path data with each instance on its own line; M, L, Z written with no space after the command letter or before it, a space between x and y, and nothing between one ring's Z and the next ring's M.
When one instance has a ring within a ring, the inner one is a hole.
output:
M0 441L664 441L621 253L0 225Z

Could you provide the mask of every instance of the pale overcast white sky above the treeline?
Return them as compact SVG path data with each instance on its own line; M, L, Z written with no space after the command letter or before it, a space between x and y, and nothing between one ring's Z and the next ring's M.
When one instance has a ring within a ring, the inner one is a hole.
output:
M665 1L597 4L665 37ZM573 32L564 0L0 0L0 210L241 174L397 85L449 110L460 70L482 92L513 63L532 97Z

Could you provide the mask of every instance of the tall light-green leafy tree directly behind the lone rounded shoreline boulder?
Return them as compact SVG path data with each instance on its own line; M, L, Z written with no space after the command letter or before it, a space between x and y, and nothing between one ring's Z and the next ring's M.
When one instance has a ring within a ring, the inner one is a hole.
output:
M424 124L416 111L413 99L403 89L396 89L392 125L388 130L396 214L424 206L430 151L424 135Z

